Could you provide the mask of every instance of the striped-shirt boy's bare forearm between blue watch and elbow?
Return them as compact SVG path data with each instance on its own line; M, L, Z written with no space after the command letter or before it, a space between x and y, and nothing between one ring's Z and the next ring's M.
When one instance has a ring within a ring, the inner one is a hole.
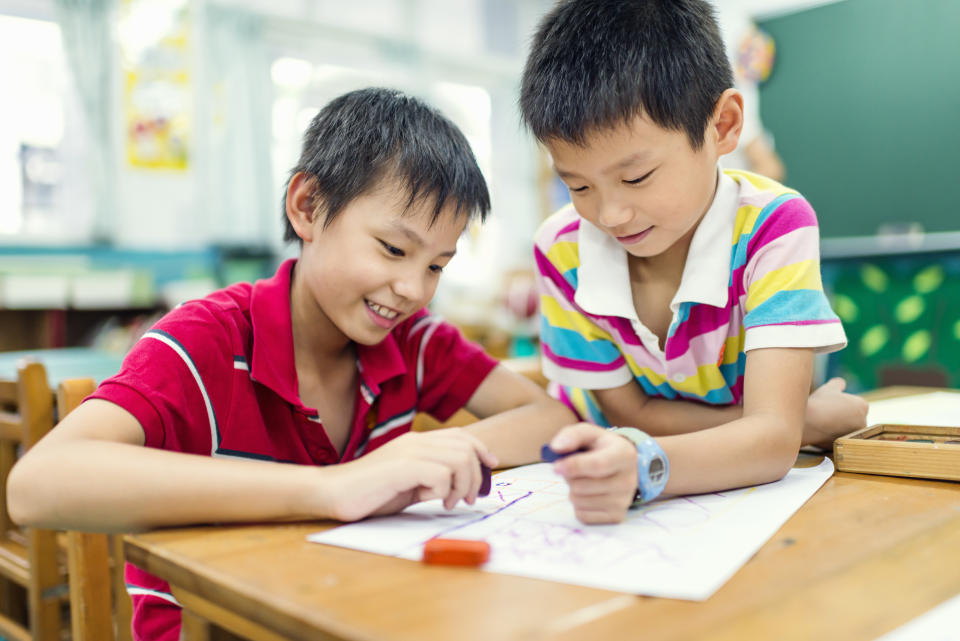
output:
M799 416L754 415L658 438L670 460L669 494L699 494L776 481L800 448Z

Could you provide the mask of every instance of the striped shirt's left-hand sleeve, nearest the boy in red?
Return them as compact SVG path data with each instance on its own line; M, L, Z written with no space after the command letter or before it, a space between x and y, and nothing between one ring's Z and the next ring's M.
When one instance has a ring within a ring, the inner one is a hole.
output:
M572 231L556 229L555 218L540 228L534 246L544 376L584 389L619 387L633 380L633 374L610 332L574 301L577 245L565 238Z

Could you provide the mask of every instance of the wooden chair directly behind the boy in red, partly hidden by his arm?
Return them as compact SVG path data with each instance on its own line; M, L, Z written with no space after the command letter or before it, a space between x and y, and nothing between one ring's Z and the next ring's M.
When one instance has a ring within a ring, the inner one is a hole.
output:
M57 387L61 419L95 388L92 378L62 381ZM67 532L67 560L73 641L131 641L121 535Z

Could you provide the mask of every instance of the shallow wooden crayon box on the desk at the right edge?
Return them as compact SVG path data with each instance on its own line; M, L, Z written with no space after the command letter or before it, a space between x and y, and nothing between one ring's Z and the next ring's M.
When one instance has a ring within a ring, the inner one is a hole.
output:
M960 427L871 425L833 444L840 472L960 481Z

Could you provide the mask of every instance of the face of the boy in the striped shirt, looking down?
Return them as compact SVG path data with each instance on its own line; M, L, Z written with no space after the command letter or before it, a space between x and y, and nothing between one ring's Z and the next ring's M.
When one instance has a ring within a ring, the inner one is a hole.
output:
M717 159L736 147L741 109L739 94L725 93L700 149L683 131L664 129L645 115L591 133L582 145L545 145L577 212L630 255L653 258L689 246L713 200Z

